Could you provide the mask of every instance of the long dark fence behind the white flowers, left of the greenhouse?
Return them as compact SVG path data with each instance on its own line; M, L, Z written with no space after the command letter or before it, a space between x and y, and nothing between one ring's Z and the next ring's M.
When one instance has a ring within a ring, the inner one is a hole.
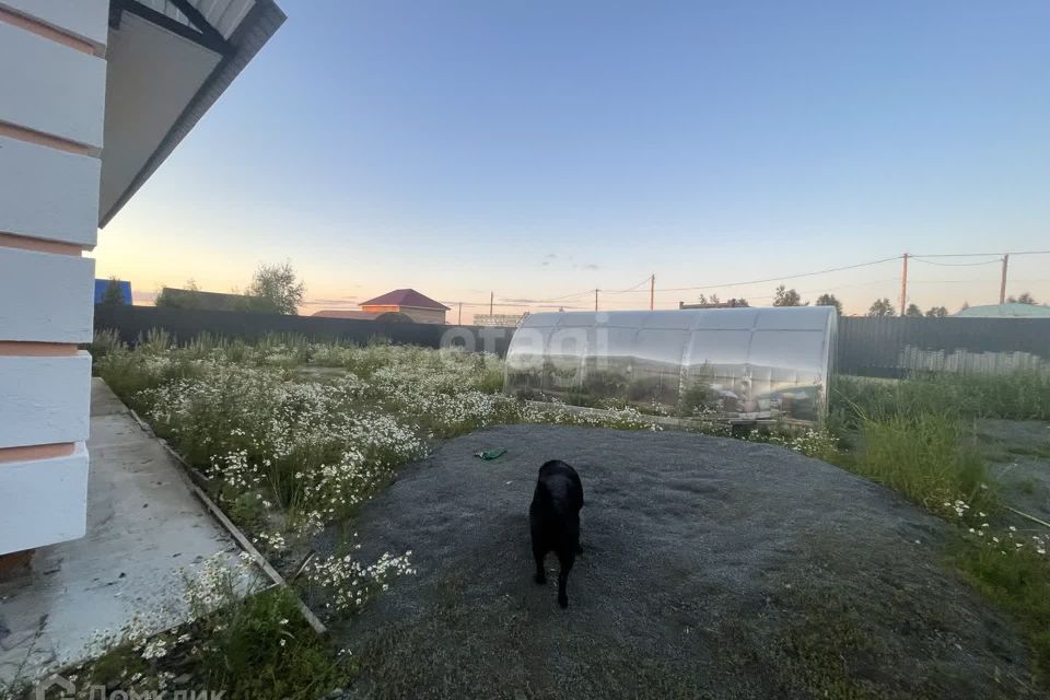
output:
M471 351L506 354L513 328L445 326L401 322L282 316L246 312L156 308L153 306L95 306L95 330L115 330L135 345L151 329L163 329L177 342L187 342L207 332L223 338L257 340L271 334L296 334L315 340L368 342L384 338L392 342L430 348L463 346Z

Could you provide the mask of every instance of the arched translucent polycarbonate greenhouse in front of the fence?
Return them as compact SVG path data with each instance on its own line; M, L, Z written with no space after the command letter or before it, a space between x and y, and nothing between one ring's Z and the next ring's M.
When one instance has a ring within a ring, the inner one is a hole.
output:
M505 390L737 422L827 413L831 306L559 312L511 339Z

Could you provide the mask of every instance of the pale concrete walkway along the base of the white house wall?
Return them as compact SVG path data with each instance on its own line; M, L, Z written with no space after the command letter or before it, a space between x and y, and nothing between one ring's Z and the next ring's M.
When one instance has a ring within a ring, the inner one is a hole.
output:
M215 553L237 560L182 467L98 378L88 448L88 535L37 550L32 572L0 583L0 687L84 661L96 630L184 621L179 570Z

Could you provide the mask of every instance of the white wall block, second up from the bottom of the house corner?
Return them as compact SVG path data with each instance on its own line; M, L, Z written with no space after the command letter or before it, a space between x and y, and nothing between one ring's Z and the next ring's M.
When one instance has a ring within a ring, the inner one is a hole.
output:
M0 447L86 440L91 355L0 355Z

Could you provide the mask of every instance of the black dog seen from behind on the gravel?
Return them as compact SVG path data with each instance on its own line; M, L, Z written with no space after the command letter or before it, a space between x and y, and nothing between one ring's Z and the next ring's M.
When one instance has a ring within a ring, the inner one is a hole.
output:
M576 560L583 553L580 546L580 509L583 508L583 483L580 475L560 459L552 459L539 468L533 504L528 506L528 523L533 532L533 557L536 558L536 583L547 583L544 557L555 550L561 570L558 572L558 605L569 607L565 582Z

